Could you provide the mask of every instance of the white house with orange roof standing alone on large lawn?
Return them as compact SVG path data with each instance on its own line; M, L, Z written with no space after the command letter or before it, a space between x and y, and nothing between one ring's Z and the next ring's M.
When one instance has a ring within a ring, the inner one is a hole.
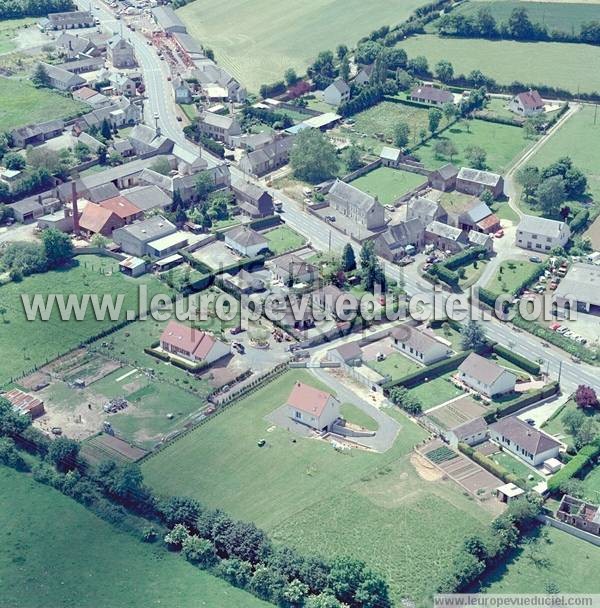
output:
M286 406L288 416L316 431L329 431L340 417L340 402L330 393L296 382Z

